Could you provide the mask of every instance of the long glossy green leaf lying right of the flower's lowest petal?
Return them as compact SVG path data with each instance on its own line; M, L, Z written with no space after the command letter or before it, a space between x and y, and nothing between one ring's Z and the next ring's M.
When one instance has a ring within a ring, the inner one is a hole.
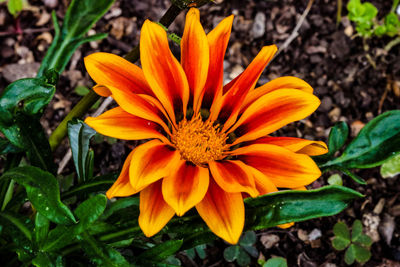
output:
M315 190L287 190L247 198L246 229L265 229L288 222L331 216L345 209L362 195L342 186L325 186Z

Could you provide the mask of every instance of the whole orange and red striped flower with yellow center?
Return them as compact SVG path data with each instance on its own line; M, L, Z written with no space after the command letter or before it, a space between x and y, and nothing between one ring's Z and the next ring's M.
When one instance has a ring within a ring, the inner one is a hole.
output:
M190 9L181 63L164 29L148 20L140 37L142 69L107 53L85 58L98 84L94 90L119 105L86 123L115 138L151 139L129 154L107 192L108 198L140 192L139 225L146 236L196 207L217 236L235 244L244 226L243 196L304 187L321 174L309 155L325 153L324 143L269 136L320 104L310 85L295 77L254 89L275 45L223 86L232 21L227 17L205 34L199 11Z

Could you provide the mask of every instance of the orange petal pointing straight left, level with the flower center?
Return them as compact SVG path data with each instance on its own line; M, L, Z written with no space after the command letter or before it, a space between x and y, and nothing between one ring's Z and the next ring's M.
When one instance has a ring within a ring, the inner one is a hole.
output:
M98 133L118 139L158 138L169 143L169 140L160 132L162 128L158 124L133 116L120 107L110 109L95 118L87 117L85 123Z

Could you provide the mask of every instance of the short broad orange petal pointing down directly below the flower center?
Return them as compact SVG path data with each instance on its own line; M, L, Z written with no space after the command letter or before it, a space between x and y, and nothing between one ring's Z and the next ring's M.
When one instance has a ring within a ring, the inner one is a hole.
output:
M168 205L182 216L204 198L208 183L207 168L182 160L180 166L163 179L162 192Z

